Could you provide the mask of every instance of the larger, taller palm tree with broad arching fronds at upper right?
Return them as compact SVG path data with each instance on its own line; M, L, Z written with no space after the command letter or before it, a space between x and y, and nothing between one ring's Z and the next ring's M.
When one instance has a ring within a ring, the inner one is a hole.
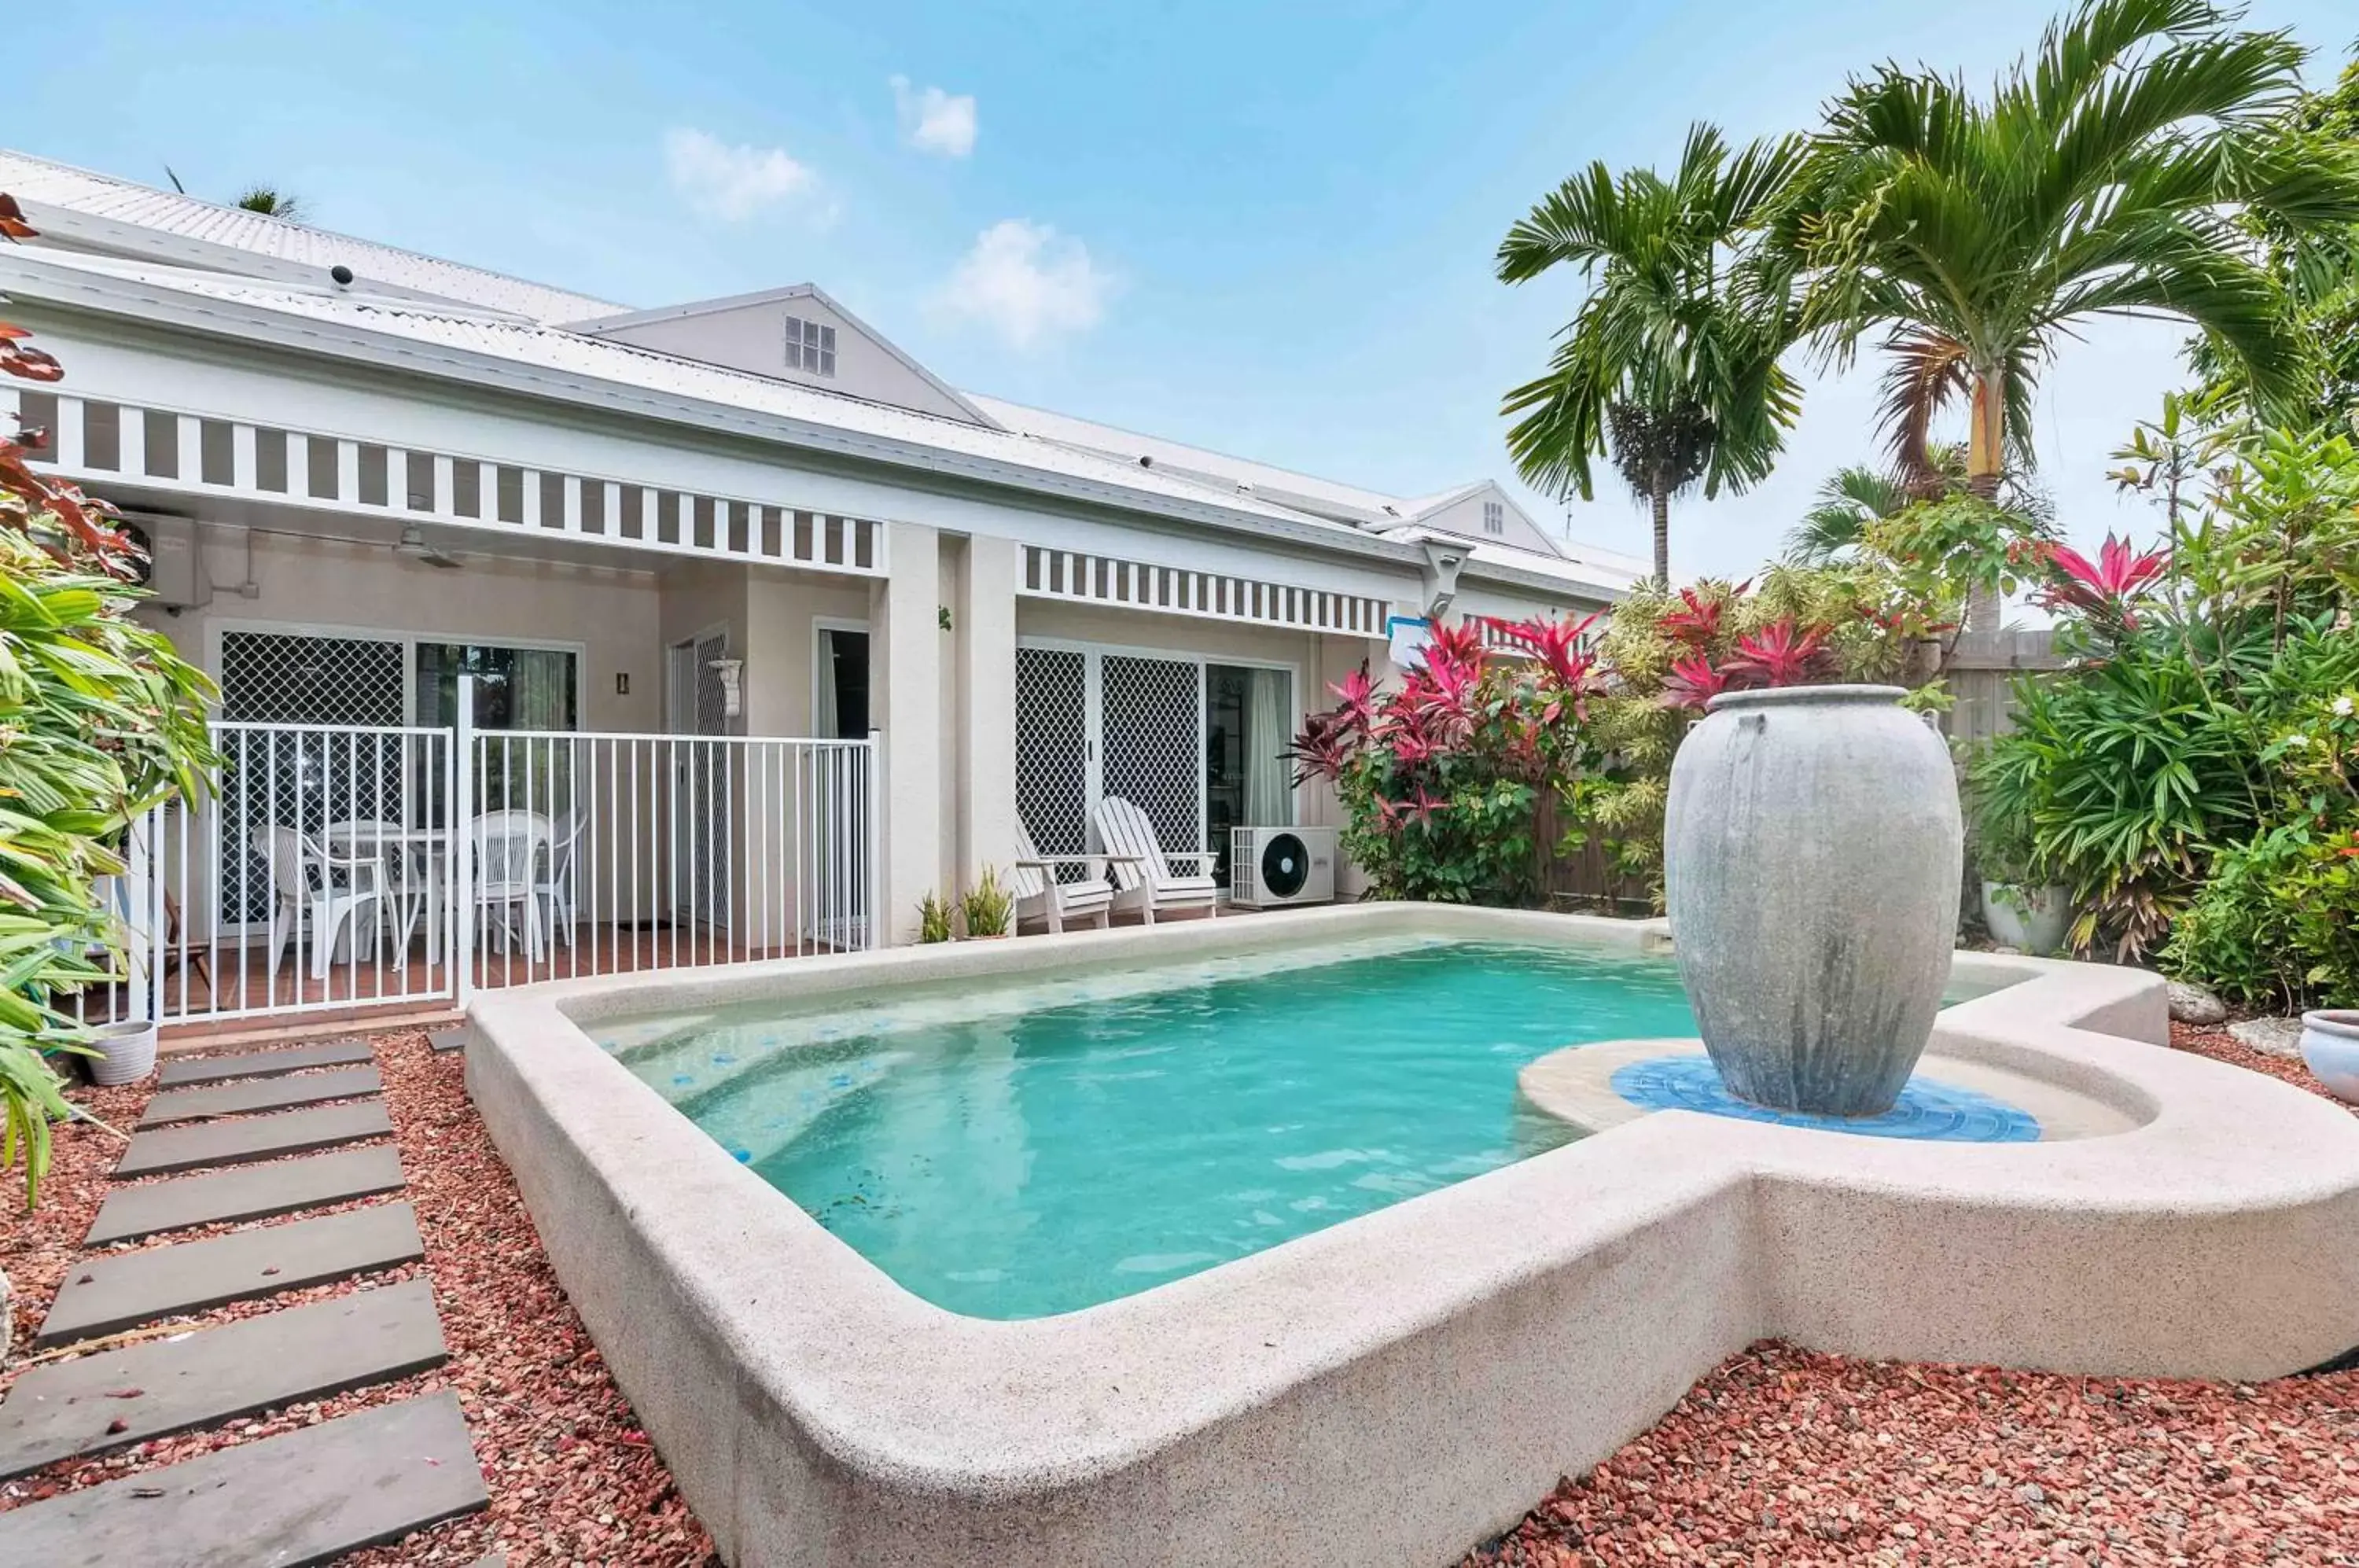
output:
M1986 99L1882 66L1828 108L1765 250L1831 361L1882 332L1904 469L1963 398L1967 486L1996 495L2010 457L2029 467L2041 368L2090 316L2187 321L2265 394L2302 384L2239 217L2359 219L2359 156L2286 132L2302 50L2234 21L2208 0L2085 0Z

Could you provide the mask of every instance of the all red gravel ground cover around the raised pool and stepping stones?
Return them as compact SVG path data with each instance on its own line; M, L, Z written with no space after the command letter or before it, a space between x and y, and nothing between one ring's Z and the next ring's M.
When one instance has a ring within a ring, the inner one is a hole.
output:
M2300 1063L2225 1033L2182 1030L2175 1045L2317 1092ZM462 1063L432 1056L422 1035L377 1037L377 1061L451 1365L234 1434L52 1467L0 1507L453 1386L493 1511L349 1563L472 1563L493 1547L519 1568L708 1563L705 1533L540 1257L467 1103ZM144 1099L85 1094L118 1125ZM116 1146L90 1129L66 1134L42 1212L0 1247L26 1297L19 1332L38 1323L113 1160ZM335 1290L349 1285L309 1294ZM1460 1568L1576 1563L2359 1563L2359 1372L2125 1382L1757 1344Z

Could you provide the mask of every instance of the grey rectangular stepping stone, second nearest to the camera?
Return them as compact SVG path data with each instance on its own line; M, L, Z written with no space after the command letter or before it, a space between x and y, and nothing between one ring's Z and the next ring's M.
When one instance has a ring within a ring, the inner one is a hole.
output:
M434 1287L401 1280L33 1368L0 1403L0 1481L75 1455L392 1382L448 1358Z

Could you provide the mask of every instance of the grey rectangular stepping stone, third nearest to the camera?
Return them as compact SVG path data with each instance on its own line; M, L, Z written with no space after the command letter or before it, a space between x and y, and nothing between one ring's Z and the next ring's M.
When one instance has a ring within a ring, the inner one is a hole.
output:
M94 1339L222 1302L326 1285L420 1257L425 1243L418 1240L418 1214L406 1203L99 1257L66 1273L50 1316L33 1335L33 1349Z

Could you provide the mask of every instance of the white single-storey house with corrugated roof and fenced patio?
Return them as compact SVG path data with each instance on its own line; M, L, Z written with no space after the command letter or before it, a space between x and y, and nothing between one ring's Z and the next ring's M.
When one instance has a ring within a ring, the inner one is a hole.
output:
M123 891L167 1021L911 941L1116 795L1217 856L1333 821L1276 752L1397 618L1644 571L1491 481L960 391L809 283L625 309L21 153L0 191L66 365L0 413L222 684L222 790Z

